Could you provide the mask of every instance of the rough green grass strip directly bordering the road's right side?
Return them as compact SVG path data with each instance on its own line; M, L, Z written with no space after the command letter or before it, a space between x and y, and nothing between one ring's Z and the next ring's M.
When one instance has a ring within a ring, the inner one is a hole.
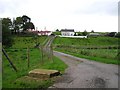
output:
M117 50L106 50L106 49L98 49L98 50L77 49L76 50L73 48L55 48L55 50L64 52L73 56L77 56L80 58L86 58L88 60L94 60L94 61L107 63L107 64L118 64L118 63L120 64L118 57L116 57Z

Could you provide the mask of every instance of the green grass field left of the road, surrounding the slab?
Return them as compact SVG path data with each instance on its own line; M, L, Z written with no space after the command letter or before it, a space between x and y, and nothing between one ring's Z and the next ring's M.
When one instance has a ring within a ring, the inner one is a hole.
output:
M38 42L43 44L47 37L39 37ZM11 61L17 68L17 72L11 67L10 63L4 55L3 59L3 88L47 88L53 80L31 81L23 79L17 80L26 76L30 70L43 68L55 69L61 73L64 72L67 65L64 64L59 58L53 57L53 60L44 57L41 59L41 50L34 48L35 41L32 37L16 37L15 42L11 48L5 49ZM28 67L27 61L27 47L29 46L30 66Z

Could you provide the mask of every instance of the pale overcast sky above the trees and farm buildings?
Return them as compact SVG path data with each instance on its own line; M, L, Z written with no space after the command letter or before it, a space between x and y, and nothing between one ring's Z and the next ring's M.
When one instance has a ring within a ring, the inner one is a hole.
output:
M27 15L38 30L118 31L119 0L0 0L0 17Z

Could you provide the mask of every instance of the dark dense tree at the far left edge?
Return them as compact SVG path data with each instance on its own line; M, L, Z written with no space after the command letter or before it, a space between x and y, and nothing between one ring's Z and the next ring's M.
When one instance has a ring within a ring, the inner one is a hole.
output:
M10 47L13 43L13 39L11 36L11 25L11 19L2 19L2 44L5 47Z

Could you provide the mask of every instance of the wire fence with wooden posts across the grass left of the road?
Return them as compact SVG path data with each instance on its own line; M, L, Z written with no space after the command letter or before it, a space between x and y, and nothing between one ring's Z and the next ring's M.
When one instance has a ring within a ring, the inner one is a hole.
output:
M3 49L3 59L7 59L10 67L17 72L22 71L20 65L24 66L24 69L30 69L33 66L37 66L38 63L43 64L48 60L53 62L53 48L52 41L54 40L53 36L46 38L43 44L39 44L38 47L29 47L26 48L9 48ZM36 45L39 42L36 43ZM6 63L6 61L5 61ZM19 63L19 64L18 64Z

